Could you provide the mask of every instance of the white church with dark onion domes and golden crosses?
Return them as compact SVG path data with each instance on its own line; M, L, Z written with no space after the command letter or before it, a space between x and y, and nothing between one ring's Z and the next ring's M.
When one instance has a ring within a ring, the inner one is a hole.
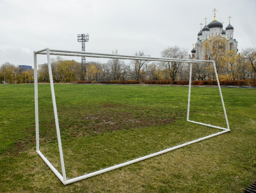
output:
M204 43L207 40L211 40L212 38L220 38L220 39L226 39L228 48L227 50L234 50L235 54L237 54L237 41L234 39L233 33L234 33L234 27L230 24L230 16L229 18L229 24L226 26L226 29L223 30L223 23L220 23L215 18L215 11L214 9L214 19L211 23L206 25L207 18L205 17L205 26L202 29L202 23L201 30L197 34L197 42L195 44L195 48L191 51L192 54L195 54L195 58L198 60L208 60L207 56L205 55L205 51L203 49Z

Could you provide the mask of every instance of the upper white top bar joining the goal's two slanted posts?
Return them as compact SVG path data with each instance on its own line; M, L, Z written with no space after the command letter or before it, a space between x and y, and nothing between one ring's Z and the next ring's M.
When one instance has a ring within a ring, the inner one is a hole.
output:
M92 54L92 55L102 55L102 56L121 56L121 57L136 57L136 58L148 58L148 59L166 59L166 58L158 58L158 57L151 57L151 56L134 56L134 55L123 55L123 54L104 54L104 53L95 53L95 52L86 52L86 51L69 51L69 50L56 50L56 49L49 49L52 52L65 52L65 53L77 53L77 54ZM40 53L41 54L41 53ZM182 60L182 61L195 61L195 62L212 62L208 60L189 60L189 59L179 59L179 58L172 58L173 60Z

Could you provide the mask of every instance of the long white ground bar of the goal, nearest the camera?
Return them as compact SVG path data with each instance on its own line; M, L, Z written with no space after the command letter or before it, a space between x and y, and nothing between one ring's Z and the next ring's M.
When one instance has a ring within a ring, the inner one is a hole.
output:
M230 130L225 130L225 131L222 131L222 132L218 132L218 133L215 133L215 134L203 137L203 138L196 139L196 140L191 141L191 142L183 143L182 145L177 145L175 147L168 148L168 149L165 149L163 151L158 151L156 153L149 154L149 155L146 155L144 157L139 157L137 159L134 159L134 160L131 160L131 161L127 161L125 163L120 163L118 165L115 165L115 166L112 166L112 167L109 167L109 168L105 168L103 170L98 170L96 172L92 172L92 173L89 173L89 174L86 174L86 175L83 175L83 176L79 176L79 177L76 177L76 178L73 178L73 179L69 179L69 180L67 180L67 182L64 182L63 184L67 185L67 184L70 184L70 183L73 183L73 182L77 182L77 181L80 181L80 180L83 180L83 179L86 179L86 178L89 178L89 177L92 177L92 176L96 176L96 175L101 174L101 173L105 173L105 172L108 172L108 171L111 171L111 170L115 170L117 168L124 167L124 166L130 165L130 164L133 164L133 163L136 163L136 162L139 162L139 161L142 161L142 160L145 160L145 159L148 159L150 157L154 157L154 156L157 156L157 155L160 155L160 154L164 154L166 152L169 152L169 151L172 151L172 150L184 147L186 145L190 145L190 144L195 143L195 142L202 141L204 139L208 139L208 138L214 137L216 135L221 135L221 134L223 134L225 132L229 132L229 131Z

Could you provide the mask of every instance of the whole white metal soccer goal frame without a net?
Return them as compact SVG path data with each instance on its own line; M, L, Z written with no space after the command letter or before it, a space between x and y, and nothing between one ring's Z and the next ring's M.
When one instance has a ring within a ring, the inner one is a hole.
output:
M59 152L60 152L62 175L58 172L58 170L55 169L55 167L52 165L52 163L50 163L50 161L47 159L47 157L45 157L42 154L42 152L40 151L40 148L39 148L37 54L47 55L50 86L51 86L51 93L52 93L52 103L53 103L53 110L54 110L54 116L55 116L55 125L56 125L56 132L57 132L57 138L58 138L58 147L59 147ZM116 58L116 59L123 59L123 60L144 60L144 61L166 61L166 62L186 62L186 63L190 63L187 121L189 121L191 123L200 124L200 125L203 125L203 126L208 126L208 127L213 127L213 128L216 128L216 129L220 129L221 131L217 132L215 134L212 134L212 135L208 135L208 136L203 137L203 138L193 140L191 142L186 142L186 143L183 143L181 145L177 145L175 147L170 147L168 149L165 149L165 150L153 153L153 154L146 155L144 157L139 157L137 159L130 160L130 161L127 161L127 162L124 162L124 163L120 163L120 164L114 165L112 167L101 169L101 170L96 171L96 172L85 174L83 176L79 176L79 177L76 177L76 178L73 178L73 179L67 179L66 171L65 171L64 158L63 158L62 145L61 145L61 135L60 135L60 128L59 128L58 112L57 112L56 101L55 101L55 92L54 92L54 85L53 85L50 55L80 56L80 57L82 56L82 57L110 58L110 59L111 58ZM213 64L216 79L217 79L217 83L218 83L218 88L219 88L219 92L220 92L220 98L221 98L221 102L222 102L222 106L223 106L223 111L224 111L224 115L225 115L225 118L226 118L227 128L223 128L223 127L219 127L219 126L213 126L213 125L210 125L210 124L204 124L204 123L201 123L201 122L199 123L199 122L189 120L192 64L194 64L194 63L196 64L196 63L199 63L199 62L200 63L201 62L210 62L210 63ZM70 183L73 183L73 182L77 182L77 181L80 181L82 179L86 179L86 178L89 178L89 177L92 177L92 176L95 176L95 175L98 175L98 174L101 174L101 173L105 173L105 172L108 172L108 171L111 171L111 170L115 170L117 168L124 167L124 166L130 165L132 163L136 163L136 162L139 162L139 161L142 161L142 160L145 160L145 159L148 159L150 157L154 157L154 156L157 156L157 155L160 155L160 154L164 154L168 151L172 151L172 150L184 147L186 145L190 145L192 143L199 142L199 141L202 141L204 139L208 139L208 138L214 137L216 135L221 135L223 133L226 133L226 132L230 131L229 123L228 123L228 119L227 119L227 115L226 115L226 110L225 110L225 105L224 105L224 101L223 101L223 97L222 97L222 93L221 93L221 89L220 89L220 82L219 82L219 79L218 79L218 74L217 74L217 70L216 70L216 66L215 66L214 61L175 59L175 58L156 58L156 57L148 57L148 56L133 56L133 55L120 55L120 54L102 54L102 53L92 53L92 52L83 52L83 51L54 50L54 49L46 48L46 49L43 49L43 50L34 51L34 79L35 79L35 114L36 114L36 152L40 155L40 157L42 157L42 159L45 161L45 163L48 165L48 167L50 167L50 169L55 173L55 175L61 180L61 182L64 185L70 184Z

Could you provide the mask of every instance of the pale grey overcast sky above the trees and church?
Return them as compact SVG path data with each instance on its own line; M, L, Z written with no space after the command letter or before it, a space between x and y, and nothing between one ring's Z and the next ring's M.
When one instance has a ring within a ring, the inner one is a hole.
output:
M228 18L238 49L256 47L255 0L1 0L0 65L33 65L33 51L43 48L81 51L77 34L88 33L86 51L159 57L167 46L190 52L200 23ZM80 61L80 57L67 57ZM99 61L98 58L86 58ZM101 59L101 62L107 60ZM40 55L38 63L46 62Z

